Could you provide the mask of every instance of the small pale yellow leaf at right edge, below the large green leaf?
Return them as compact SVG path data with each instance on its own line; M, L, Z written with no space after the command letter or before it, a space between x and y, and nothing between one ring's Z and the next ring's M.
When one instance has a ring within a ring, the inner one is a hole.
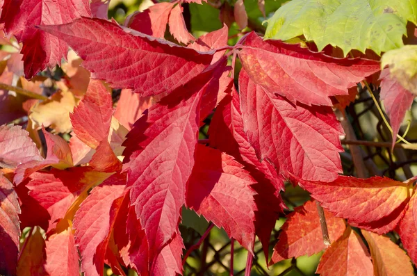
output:
M417 95L416 56L417 45L405 45L386 52L381 58L381 68L389 65L391 77L414 95Z

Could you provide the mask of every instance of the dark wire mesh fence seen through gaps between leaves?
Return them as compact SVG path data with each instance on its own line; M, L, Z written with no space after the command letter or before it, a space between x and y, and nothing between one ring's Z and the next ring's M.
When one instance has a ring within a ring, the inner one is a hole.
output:
M372 86L371 86L372 87ZM379 90L373 89L373 94L379 101ZM344 174L357 177L371 177L374 175L391 177L400 181L414 177L417 168L417 152L404 149L397 145L391 152L391 131L386 126L382 116L377 110L370 93L366 89L358 88L359 95L354 103L345 108L344 114L337 112L342 122L346 136L343 139L345 152L341 154ZM380 105L380 104L379 104ZM417 141L416 120L413 118L413 109L409 120L409 142ZM400 135L404 134L400 129ZM416 136L416 138L413 137ZM204 136L204 133L202 134ZM300 206L309 200L309 194L301 188L286 185L282 197L288 206L288 213L295 206ZM275 230L270 237L270 255L272 248L277 243L279 227L284 222L285 214L277 221ZM210 227L210 226L209 226ZM182 234L186 251L190 247L196 248L190 253L184 264L184 275L245 275L247 251L234 241L230 241L222 230L213 228L202 238L202 232L192 228L182 227ZM389 236L395 243L401 245L398 235L394 232ZM198 246L198 244L201 245ZM197 244L197 246L196 246ZM266 266L261 243L256 241L254 259L250 275L276 275L276 276L307 276L315 275L316 267L321 254L312 257L300 257L276 263L269 268ZM231 258L233 254L233 258ZM232 261L233 259L233 261ZM248 275L248 274L246 274Z

